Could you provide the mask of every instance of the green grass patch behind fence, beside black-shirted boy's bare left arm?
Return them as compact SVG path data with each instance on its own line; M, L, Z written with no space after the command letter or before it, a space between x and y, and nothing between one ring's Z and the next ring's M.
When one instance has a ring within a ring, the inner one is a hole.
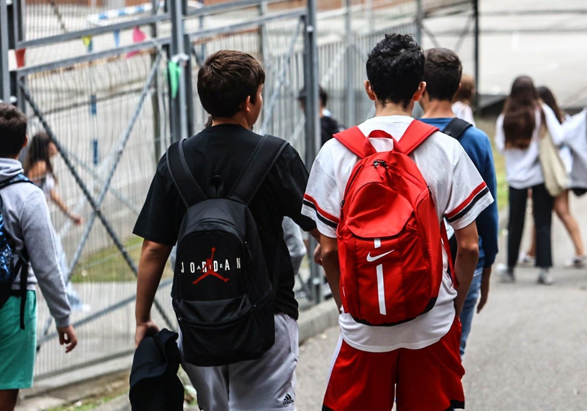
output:
M133 235L124 242L124 248L134 264L139 264L143 239ZM172 275L167 266L163 277ZM135 281L134 273L115 245L103 248L80 260L73 270L72 282Z

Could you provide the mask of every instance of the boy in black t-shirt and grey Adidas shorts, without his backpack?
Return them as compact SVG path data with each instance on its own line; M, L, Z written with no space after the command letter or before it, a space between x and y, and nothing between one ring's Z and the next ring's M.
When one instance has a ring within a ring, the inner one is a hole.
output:
M257 60L247 53L230 50L209 56L198 72L198 95L212 116L212 127L187 139L183 147L187 166L200 187L208 187L212 177L220 176L227 193L244 169L261 139L249 129L261 112L264 80L265 72ZM281 259L275 300L275 345L253 361L211 367L184 363L197 390L198 405L205 410L295 408L298 303L281 224L284 216L288 216L303 230L317 235L316 225L300 212L307 181L306 167L288 144L249 204L270 276L277 251ZM185 211L163 156L134 227L134 234L145 239L137 278L137 345L158 329L150 309Z

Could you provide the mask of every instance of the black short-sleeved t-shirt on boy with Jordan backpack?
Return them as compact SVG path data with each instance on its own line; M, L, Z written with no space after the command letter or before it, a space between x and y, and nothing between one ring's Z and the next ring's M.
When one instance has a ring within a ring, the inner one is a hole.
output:
M237 124L219 124L190 137L184 143L185 159L196 181L206 192L214 176L224 181L228 193L245 163L261 139ZM280 247L279 284L276 312L298 318L298 302L294 297L294 269L285 245L281 223L284 215L291 217L303 230L316 224L301 214L303 193L308 183L308 170L292 146L286 146L264 183L249 204L261 237L265 264L274 271L276 247ZM143 210L133 233L160 244L176 244L185 204L169 174L166 156L159 161Z

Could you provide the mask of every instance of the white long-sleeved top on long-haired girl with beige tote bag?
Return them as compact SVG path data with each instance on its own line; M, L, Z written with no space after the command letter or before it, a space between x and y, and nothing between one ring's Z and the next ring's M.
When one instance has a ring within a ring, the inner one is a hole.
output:
M542 110L546 119L546 128L552 136L556 146L564 142L564 133L561 123L550 107L542 103ZM506 180L511 187L521 190L544 183L542 169L538 159L540 130L542 116L540 110L536 110L536 126L532 132L532 139L527 149L505 149L504 114L497 117L495 123L495 146L504 153Z

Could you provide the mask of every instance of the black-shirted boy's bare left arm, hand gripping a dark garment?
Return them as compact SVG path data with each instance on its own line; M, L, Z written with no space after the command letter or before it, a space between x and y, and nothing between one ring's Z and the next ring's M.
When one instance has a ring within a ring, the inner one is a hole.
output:
M137 298L134 311L137 322L136 332L134 333L135 348L139 346L145 336L159 331L159 328L151 319L151 306L171 248L173 248L171 245L159 244L149 240L143 241L139 270L137 272Z

